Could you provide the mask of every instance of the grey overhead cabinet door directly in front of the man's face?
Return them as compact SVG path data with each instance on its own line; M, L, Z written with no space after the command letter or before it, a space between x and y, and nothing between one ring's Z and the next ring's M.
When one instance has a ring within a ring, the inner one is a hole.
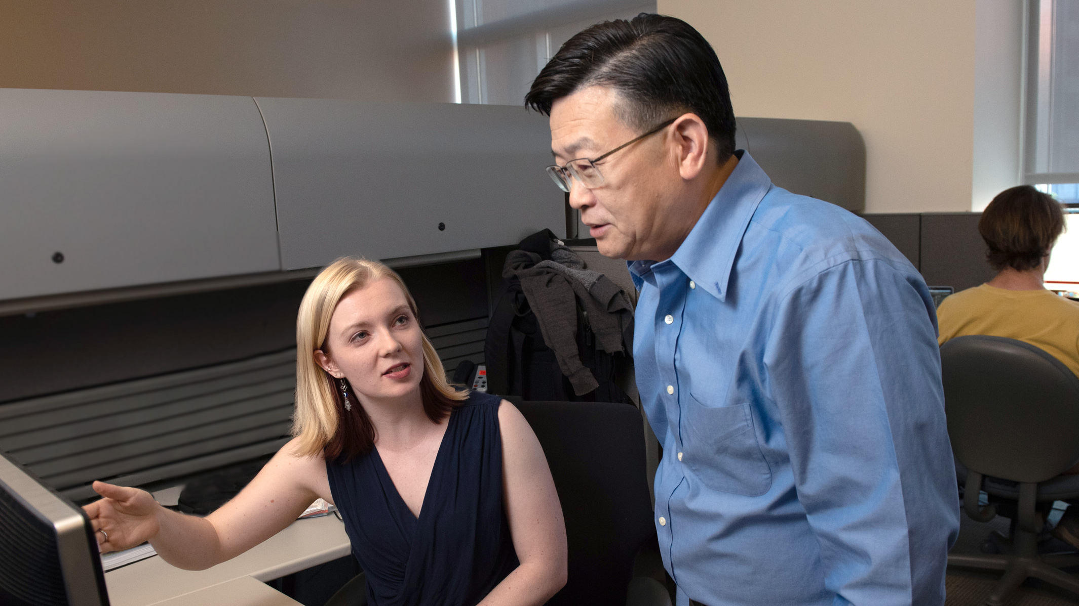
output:
M282 266L516 244L565 230L547 119L508 106L257 98Z

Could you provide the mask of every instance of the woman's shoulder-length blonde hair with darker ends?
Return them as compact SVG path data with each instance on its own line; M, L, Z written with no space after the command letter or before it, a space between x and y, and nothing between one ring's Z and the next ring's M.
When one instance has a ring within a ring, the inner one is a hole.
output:
M315 350L325 350L330 318L341 299L369 283L390 278L405 292L409 308L419 321L415 301L396 272L378 261L345 257L323 270L303 295L296 319L296 415L292 435L299 438L298 454L324 455L327 459L347 460L366 454L374 445L374 425L364 407L353 397L351 411L333 378L315 361ZM350 389L352 391L352 389ZM446 371L434 345L423 335L423 377L420 395L424 412L441 423L453 409L468 398L446 381Z

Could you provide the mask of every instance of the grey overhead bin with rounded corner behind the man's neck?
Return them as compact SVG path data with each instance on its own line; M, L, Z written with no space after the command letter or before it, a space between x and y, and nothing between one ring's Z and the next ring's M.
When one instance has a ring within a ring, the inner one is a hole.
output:
M865 142L853 124L739 118L736 144L780 188L852 212L865 209Z

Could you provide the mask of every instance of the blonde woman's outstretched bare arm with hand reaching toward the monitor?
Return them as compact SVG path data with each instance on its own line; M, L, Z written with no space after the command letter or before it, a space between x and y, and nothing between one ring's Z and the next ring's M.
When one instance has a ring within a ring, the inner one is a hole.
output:
M240 555L284 529L316 498L331 500L322 457L295 454L295 440L282 446L235 498L206 518L161 507L146 491L95 482L106 497L84 507L101 552L149 540L169 564L191 570Z

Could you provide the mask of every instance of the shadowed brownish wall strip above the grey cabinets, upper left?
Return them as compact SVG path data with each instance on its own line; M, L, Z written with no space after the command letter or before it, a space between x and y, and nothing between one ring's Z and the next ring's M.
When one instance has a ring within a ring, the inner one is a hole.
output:
M0 87L453 100L446 0L0 0Z

